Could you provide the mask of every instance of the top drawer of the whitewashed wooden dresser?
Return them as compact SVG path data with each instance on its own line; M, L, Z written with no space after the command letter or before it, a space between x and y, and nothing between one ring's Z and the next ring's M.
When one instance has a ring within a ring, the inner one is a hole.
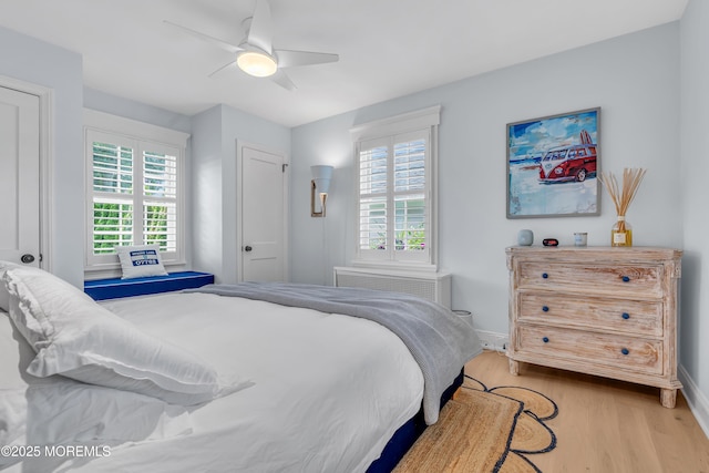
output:
M520 261L517 288L662 296L662 266Z

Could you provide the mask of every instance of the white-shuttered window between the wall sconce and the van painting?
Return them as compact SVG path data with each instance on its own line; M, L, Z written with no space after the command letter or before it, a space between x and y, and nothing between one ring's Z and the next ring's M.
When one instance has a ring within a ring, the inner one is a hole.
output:
M435 266L440 109L352 130L358 169L356 264Z

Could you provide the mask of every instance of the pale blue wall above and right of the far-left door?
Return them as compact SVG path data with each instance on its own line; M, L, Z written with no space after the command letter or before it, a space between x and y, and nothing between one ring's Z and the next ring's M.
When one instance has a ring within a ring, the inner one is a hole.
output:
M80 54L0 28L0 75L53 90L50 269L78 287L84 245L82 72Z

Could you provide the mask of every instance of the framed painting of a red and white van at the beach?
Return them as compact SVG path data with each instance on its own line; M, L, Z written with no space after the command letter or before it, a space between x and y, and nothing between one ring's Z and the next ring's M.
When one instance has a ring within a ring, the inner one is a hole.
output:
M599 215L600 107L507 124L507 218Z

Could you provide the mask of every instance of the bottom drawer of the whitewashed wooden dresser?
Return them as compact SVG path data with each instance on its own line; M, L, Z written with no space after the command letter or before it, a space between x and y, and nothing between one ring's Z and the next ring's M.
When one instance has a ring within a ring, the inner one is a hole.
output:
M520 323L514 349L644 374L662 374L662 342L626 336Z

